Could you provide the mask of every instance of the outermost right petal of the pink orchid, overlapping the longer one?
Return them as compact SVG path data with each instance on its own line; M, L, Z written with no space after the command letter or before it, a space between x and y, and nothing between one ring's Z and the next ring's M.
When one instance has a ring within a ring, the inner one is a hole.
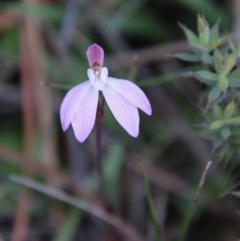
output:
M108 77L107 83L131 104L137 106L146 114L152 114L152 108L144 92L129 80Z

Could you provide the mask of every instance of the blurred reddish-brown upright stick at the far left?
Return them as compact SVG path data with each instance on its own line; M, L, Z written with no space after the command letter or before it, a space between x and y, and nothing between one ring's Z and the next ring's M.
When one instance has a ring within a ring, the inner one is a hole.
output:
M21 31L21 85L22 85L22 109L23 109L23 170L24 177L30 177L32 174L31 159L33 156L33 143L35 137L35 116L34 116L34 98L31 69L30 35L29 21L24 19ZM23 241L28 233L28 222L30 212L30 191L22 188L19 196L19 203L15 223L13 227L12 241Z

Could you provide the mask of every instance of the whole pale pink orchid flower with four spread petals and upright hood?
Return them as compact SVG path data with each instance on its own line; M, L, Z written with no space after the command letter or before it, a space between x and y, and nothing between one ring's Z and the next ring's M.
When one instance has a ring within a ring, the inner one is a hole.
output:
M78 141L84 142L90 134L96 119L99 91L120 125L133 137L139 133L138 108L151 115L151 105L143 91L129 80L108 77L103 67L104 51L97 45L87 50L90 68L89 80L72 88L65 96L60 118L63 130L72 124Z

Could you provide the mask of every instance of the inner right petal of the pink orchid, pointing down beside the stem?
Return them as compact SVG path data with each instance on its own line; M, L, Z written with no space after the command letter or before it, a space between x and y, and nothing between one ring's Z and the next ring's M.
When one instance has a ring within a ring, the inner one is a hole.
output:
M102 92L116 120L131 136L137 137L139 133L139 114L137 107L129 103L108 84L104 86Z

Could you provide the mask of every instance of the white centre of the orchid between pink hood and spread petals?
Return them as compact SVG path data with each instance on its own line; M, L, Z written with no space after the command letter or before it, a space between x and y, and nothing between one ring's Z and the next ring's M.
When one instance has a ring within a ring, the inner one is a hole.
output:
M102 90L108 76L108 69L99 65L94 65L91 69L87 70L87 75L90 83L96 90Z

